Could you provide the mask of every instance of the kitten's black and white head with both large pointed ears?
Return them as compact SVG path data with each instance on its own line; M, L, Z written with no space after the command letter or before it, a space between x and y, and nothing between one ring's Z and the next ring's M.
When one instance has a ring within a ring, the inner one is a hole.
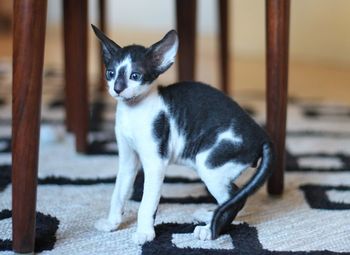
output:
M152 82L174 63L179 44L175 30L146 48L140 45L120 47L94 25L92 28L102 44L108 91L118 100L141 98L151 89Z

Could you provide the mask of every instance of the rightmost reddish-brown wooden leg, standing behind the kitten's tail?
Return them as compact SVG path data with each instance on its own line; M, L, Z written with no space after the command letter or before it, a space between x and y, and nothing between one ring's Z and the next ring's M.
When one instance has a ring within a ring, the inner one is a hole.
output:
M290 0L266 0L267 130L275 144L274 172L268 192L283 192L288 95Z

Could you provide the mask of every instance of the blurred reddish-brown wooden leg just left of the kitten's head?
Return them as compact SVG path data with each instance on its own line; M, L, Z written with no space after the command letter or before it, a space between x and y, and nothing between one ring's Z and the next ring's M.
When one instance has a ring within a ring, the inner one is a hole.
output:
M67 117L76 150L86 152L88 133L87 0L64 0Z

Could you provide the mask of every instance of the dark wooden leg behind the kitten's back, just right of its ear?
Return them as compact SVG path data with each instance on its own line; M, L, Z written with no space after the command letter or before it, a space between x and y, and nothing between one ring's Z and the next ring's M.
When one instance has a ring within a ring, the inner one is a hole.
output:
M196 57L196 0L176 0L176 22L180 46L178 79L193 80Z

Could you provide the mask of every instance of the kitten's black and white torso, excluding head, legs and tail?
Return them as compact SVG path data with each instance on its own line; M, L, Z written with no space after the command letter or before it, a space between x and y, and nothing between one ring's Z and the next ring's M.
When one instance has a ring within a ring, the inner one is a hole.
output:
M267 140L233 100L195 82L155 88L138 104L120 104L116 130L145 157L157 152L167 163L193 166L203 154L208 168L254 164Z

